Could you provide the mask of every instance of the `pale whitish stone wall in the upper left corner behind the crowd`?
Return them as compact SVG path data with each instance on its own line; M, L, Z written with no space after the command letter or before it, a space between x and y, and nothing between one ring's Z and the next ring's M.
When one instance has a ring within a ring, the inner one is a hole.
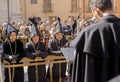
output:
M0 24L8 21L8 0L0 0ZM9 18L16 23L22 20L19 0L9 0Z

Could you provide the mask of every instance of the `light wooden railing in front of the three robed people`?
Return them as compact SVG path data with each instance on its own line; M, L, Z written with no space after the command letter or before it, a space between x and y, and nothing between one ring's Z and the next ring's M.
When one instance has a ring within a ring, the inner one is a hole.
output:
M11 78L10 68L12 68L12 67L37 66L37 65L48 64L50 66L50 82L53 82L53 79L52 79L52 65L54 63L59 63L59 64L64 63L64 62L66 62L66 60L65 60L64 56L52 56L52 55L50 55L50 56L47 56L45 59L42 59L41 57L36 57L34 60L29 59L27 57L24 57L20 62L23 62L23 63L22 64L10 65L8 62L3 61L3 65L1 66L1 68L8 68L9 78ZM34 63L29 63L29 62L34 62ZM59 65L59 71L61 71L60 68L61 67ZM2 76L0 77L0 79L2 79ZM61 82L61 80L62 80L61 79L61 74L59 74L59 82ZM9 82L11 82L11 80Z

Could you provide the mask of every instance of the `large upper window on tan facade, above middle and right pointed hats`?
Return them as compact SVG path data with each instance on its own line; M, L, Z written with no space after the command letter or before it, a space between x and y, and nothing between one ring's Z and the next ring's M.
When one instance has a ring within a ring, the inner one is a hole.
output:
M52 4L51 0L43 0L43 12L51 12Z

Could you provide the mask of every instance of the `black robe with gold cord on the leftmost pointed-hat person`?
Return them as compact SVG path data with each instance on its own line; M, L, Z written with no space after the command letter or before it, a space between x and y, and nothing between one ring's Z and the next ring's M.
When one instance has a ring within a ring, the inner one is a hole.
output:
M12 54L11 51L13 53L16 52L16 54ZM19 61L25 56L23 43L19 40L16 40L13 43L10 41L6 41L3 43L3 53L4 53L3 58L6 58L8 55L18 55L18 58L16 59L16 63L14 64L19 64ZM8 59L6 60L11 63L10 60ZM8 68L5 68L4 73L5 73L5 82L9 82ZM23 67L11 68L11 77L14 79L13 82L24 82Z

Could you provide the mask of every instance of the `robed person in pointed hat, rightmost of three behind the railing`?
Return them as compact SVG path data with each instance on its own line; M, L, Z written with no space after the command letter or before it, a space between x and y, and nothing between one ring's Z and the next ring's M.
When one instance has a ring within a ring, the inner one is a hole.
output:
M55 56L62 56L62 52L60 50L60 48L62 47L66 47L68 41L66 40L66 38L64 37L63 33L62 33L62 29L61 29L61 24L60 24L60 18L57 18L57 26L56 26L56 30L54 32L54 38L49 40L48 43L48 52L50 55L55 55ZM56 60L54 60L56 61ZM67 63L60 63L60 64L53 64L52 67L52 74L53 74L53 82L59 82L60 77L61 78L66 78L66 65ZM61 66L61 67L59 67ZM61 69L61 74L59 73ZM50 70L48 70L48 79L50 78ZM59 76L61 75L61 76Z

